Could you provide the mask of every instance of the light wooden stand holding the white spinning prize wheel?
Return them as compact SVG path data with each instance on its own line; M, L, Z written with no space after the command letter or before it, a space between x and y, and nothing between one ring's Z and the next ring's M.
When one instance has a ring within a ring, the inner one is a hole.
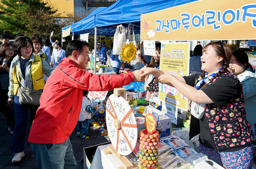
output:
M115 96L122 96L125 99L126 96L126 90L123 88L116 88L114 89ZM119 130L121 128L121 122L119 119L114 120L114 127ZM119 166L118 169L137 169L138 166L136 163L131 163L125 156L120 155L116 149L113 147L113 145L109 145L108 148L103 149L104 154L110 154L116 156L116 158L122 163L123 166Z

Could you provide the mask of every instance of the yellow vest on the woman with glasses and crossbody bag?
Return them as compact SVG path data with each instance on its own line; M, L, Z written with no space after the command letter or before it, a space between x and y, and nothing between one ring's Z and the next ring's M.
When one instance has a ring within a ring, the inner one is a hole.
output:
M16 66L16 65L14 65L14 66ZM18 68L16 68L16 74L15 74L15 68L13 68L12 77L13 77L12 79L14 81L14 84L13 84L14 95L16 95L17 91L19 89L19 82L20 82ZM44 89L43 64L42 64L42 58L40 56L35 55L35 61L31 62L30 77L31 77L31 81L32 81L32 87L34 90Z

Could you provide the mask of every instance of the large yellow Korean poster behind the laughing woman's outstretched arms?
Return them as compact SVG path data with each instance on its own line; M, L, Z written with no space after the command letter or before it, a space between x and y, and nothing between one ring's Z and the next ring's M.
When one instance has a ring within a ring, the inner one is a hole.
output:
M160 70L173 76L189 75L190 42L162 44ZM187 111L188 99L175 87L159 83L159 99Z

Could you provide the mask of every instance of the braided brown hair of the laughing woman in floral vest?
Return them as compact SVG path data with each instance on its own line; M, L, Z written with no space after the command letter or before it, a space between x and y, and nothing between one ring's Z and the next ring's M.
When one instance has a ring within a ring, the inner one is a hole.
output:
M227 45L226 43L217 41L217 42L210 42L206 46L204 46L203 53L207 50L207 48L209 46L212 46L214 48L214 51L216 52L217 56L221 56L223 58L223 60L220 63L223 68L221 68L221 70L210 80L210 83L211 83L216 77L220 76L222 73L227 72L227 68L229 67L229 61L231 58L232 50L231 50L230 46ZM202 78L205 77L204 73L205 73L205 71L203 72ZM207 83L205 85L202 84L200 87L204 88L208 85L209 85L209 83Z

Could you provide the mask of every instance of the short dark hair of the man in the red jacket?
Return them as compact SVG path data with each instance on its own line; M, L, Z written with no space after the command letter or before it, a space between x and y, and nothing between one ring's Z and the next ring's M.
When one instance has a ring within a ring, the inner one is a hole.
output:
M66 48L66 51L65 51L66 57L71 56L72 53L73 53L73 51L79 51L79 52L81 52L84 45L86 45L87 47L89 47L89 43L86 42L85 40L82 40L82 39L74 39L74 40L71 40L71 41L67 44L67 48Z

